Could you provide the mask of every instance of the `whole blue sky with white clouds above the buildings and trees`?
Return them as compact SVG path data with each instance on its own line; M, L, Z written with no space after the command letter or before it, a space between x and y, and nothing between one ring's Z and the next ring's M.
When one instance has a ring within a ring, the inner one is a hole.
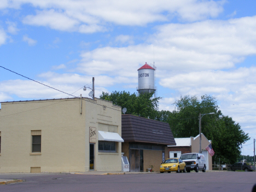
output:
M159 110L211 95L256 138L256 1L1 0L1 65L84 97L137 92L137 69L155 64ZM0 67L0 102L65 98ZM203 120L203 118L202 118Z

